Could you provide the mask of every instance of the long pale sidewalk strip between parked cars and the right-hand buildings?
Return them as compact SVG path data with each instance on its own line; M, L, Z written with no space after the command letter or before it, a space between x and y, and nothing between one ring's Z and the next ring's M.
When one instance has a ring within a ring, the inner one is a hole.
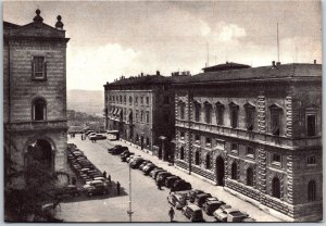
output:
M145 159L150 160L155 165L189 181L193 189L200 189L211 193L213 197L216 197L217 199L224 201L227 204L230 204L233 208L239 209L240 211L248 213L250 217L255 218L256 222L281 222L280 219L263 212L262 210L254 206L253 204L246 202L233 196L231 193L225 191L223 187L214 186L196 176L189 175L188 173L180 171L173 165L168 165L168 162L163 162L162 160L159 160L156 156L146 153L145 151L140 150L140 147L137 148L136 145L130 143L129 141L116 140L110 142L114 145L127 146L131 152L135 152L135 154L141 155Z

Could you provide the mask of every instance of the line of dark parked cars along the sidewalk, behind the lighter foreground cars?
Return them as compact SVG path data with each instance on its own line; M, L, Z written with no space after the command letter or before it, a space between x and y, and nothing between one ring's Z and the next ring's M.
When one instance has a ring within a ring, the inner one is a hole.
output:
M127 162L131 168L139 168L143 175L151 176L160 187L165 186L172 191L191 189L190 183L156 166L151 161L136 155L134 152L130 152L127 147L117 145L108 149L108 152L111 154L120 154L122 162Z

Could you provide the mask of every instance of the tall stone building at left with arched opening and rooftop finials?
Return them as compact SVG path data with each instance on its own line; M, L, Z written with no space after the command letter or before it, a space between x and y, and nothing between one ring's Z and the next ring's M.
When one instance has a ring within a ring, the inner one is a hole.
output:
M5 164L17 172L5 185L28 183L26 168L38 161L49 173L66 175L66 45L61 16L55 28L45 24L40 10L26 25L3 23L3 123Z

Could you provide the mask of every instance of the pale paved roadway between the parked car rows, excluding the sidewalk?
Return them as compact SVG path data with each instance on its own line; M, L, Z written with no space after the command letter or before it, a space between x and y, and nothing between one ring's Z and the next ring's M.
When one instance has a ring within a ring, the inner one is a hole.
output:
M114 183L117 180L122 186L121 196L116 191L109 197L83 198L73 202L61 203L60 218L65 222L128 222L127 215L128 192L129 192L129 171L128 164L120 160L120 155L109 154L106 149L112 147L109 140L82 141L79 136L70 139L74 142L87 158L100 170L106 171ZM167 212L171 205L166 201L168 191L166 188L158 190L151 177L143 176L139 170L131 170L133 185L133 222L167 222ZM176 211L175 221L188 222L188 219ZM210 221L213 221L211 217Z

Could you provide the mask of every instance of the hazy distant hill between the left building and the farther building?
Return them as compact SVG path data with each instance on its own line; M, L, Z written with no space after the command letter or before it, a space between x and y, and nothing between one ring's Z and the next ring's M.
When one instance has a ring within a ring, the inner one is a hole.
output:
M104 90L67 90L67 109L102 116L104 110Z

